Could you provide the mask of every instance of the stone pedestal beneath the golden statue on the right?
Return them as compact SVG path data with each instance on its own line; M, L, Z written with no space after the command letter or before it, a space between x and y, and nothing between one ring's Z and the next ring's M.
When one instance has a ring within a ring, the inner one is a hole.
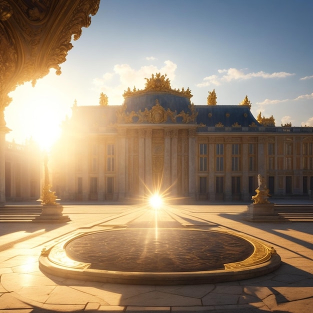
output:
M275 213L274 203L247 205L246 220L249 221L283 221L283 217Z

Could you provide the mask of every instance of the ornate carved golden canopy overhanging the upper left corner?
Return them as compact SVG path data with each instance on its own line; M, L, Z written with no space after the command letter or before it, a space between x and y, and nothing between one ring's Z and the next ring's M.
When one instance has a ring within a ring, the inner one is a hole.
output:
M45 76L59 64L88 27L100 0L0 0L0 126L8 93Z

